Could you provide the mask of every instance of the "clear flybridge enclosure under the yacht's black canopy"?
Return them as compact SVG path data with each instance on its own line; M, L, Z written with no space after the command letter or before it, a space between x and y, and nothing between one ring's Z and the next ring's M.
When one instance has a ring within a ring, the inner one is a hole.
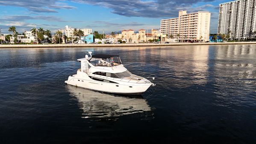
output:
M119 56L112 56L110 58L94 58L92 57L89 62L95 66L111 67L122 64Z

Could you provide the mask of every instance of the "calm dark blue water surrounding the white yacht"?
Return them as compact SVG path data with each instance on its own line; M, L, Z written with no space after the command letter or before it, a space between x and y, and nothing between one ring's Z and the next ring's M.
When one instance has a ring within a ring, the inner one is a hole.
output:
M121 97L65 85L87 50L156 86ZM0 50L0 144L255 142L256 45Z

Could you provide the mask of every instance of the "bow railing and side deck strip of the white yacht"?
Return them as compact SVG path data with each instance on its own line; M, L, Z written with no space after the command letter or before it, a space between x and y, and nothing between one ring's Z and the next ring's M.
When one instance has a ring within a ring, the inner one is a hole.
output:
M98 78L104 78L104 79L112 79L112 80L117 80L117 81L123 81L123 82L132 82L132 83L139 83L141 82L142 80L145 80L147 79L148 81L144 81L144 82L151 82L152 80L155 79L156 75L154 74L149 74L149 73L144 73L142 76L139 76L140 78L144 78L144 79L140 79L138 78L137 75L132 75L132 76L127 76L127 77L123 77L123 78L119 78L118 76L104 76L103 73L100 75L100 74L95 74L95 73L92 73L92 72L88 72L88 75L89 76L96 76ZM145 76L145 77L144 77ZM129 77L129 78L128 78ZM136 79L136 77L138 79ZM134 81L135 82L134 82Z

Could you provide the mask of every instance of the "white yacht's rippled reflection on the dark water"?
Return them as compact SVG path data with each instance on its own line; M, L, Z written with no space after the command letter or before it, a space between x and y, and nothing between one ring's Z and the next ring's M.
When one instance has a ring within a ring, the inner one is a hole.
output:
M77 98L82 118L107 118L150 111L150 106L142 96L121 97L95 92L67 85L71 96Z

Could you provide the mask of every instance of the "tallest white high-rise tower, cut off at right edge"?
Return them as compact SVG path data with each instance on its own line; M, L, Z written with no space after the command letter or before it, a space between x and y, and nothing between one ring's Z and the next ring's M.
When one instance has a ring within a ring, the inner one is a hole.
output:
M232 39L250 38L256 31L256 0L221 3L218 33Z

